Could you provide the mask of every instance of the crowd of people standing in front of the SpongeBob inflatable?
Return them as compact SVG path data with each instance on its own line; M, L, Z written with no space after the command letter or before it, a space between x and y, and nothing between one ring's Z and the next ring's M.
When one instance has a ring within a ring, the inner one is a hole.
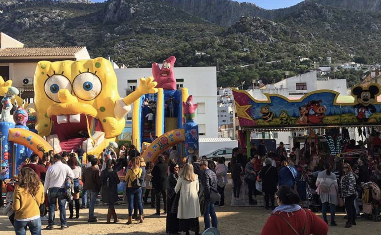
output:
M56 211L62 230L68 227L67 219L80 217L81 208L88 208L88 222L97 222L94 211L99 196L108 205L106 223L111 223L112 218L114 223L119 222L115 212L115 203L121 200L118 172L125 172L123 200L128 204L127 224L133 224L133 220L144 222L144 204L150 203L151 208L156 207L154 215L166 214L169 234L190 231L199 234L201 216L205 229L218 226L214 206L224 206L227 183L224 159L216 165L193 156L188 163L173 147L165 155L159 155L154 164L145 162L134 145L129 150L122 145L118 154L112 151L106 158L104 151L99 156L88 155L86 164L83 155L78 156L80 150L61 154L51 150L42 159L31 155L30 163L18 175L11 204L14 212L10 221L16 234L26 234L27 227L32 235L41 234L42 221L48 222L46 230L53 230Z

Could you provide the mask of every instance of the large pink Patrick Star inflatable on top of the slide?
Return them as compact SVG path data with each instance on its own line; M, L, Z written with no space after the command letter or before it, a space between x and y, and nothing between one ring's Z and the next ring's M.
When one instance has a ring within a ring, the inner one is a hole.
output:
M172 55L164 60L161 69L156 62L152 64L152 75L155 82L157 82L156 88L161 87L166 90L176 90L176 79L173 72L174 62L176 62L176 57Z

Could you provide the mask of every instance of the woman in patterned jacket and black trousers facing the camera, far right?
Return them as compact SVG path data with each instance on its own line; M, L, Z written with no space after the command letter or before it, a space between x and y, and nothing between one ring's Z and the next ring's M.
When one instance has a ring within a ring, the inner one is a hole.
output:
M354 200L356 200L356 177L351 166L348 163L343 164L343 177L341 178L341 196L344 198L345 209L347 211L346 228L356 225L356 208Z

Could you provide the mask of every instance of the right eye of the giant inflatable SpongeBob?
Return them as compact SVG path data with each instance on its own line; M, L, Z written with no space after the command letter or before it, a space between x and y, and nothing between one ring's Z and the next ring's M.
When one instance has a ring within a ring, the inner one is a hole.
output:
M102 83L98 76L85 72L78 74L73 81L73 90L78 98L91 100L96 98L102 90Z

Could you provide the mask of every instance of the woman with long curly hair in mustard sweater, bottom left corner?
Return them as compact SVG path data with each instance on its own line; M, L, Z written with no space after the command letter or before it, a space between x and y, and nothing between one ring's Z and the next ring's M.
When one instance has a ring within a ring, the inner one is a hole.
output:
M13 194L14 231L16 235L25 235L29 227L32 235L41 235L40 204L44 202L44 186L40 178L29 167L22 167L19 173L20 183Z

